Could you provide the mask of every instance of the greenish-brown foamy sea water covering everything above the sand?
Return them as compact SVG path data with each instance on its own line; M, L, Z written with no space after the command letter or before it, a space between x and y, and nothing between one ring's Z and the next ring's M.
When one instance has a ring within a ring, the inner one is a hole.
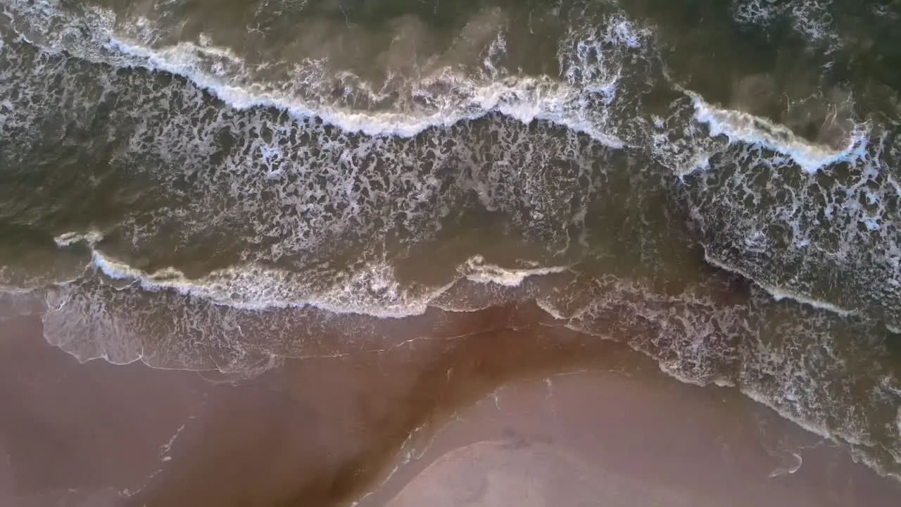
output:
M80 360L533 300L901 476L901 2L0 5L0 307Z

